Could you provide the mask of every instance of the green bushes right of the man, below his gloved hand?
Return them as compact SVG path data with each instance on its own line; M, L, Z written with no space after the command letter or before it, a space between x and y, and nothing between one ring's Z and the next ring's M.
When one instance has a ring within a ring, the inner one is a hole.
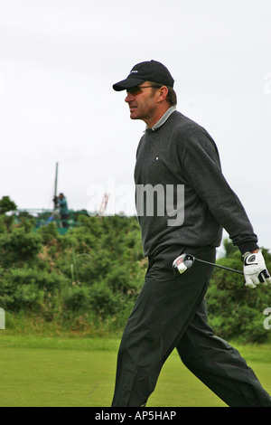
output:
M227 241L227 243L229 243ZM271 255L263 250L267 269L271 269ZM230 250L229 257L218 260L221 265L242 270L243 261L238 250ZM268 337L264 328L263 312L270 307L270 288L245 287L245 279L238 274L215 269L207 292L210 326L225 339L262 343Z

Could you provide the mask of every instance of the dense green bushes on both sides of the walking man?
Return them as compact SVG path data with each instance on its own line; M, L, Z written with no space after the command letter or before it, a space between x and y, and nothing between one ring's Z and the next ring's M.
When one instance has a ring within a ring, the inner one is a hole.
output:
M96 332L123 329L145 277L141 235L135 217L79 217L81 225L60 235L53 223L33 231L0 214L0 307L12 315L33 316L35 323ZM218 260L242 269L229 241ZM264 250L271 270L271 255ZM215 269L207 292L210 326L225 339L264 342L263 311L270 288L249 289L244 278Z

